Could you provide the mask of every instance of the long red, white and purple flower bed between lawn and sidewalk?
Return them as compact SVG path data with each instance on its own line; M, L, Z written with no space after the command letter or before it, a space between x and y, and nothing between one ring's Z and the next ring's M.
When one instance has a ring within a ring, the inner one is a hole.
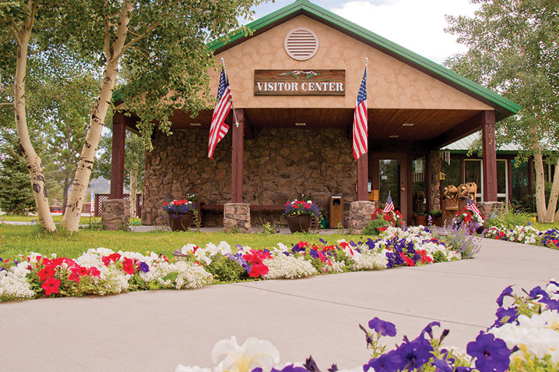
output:
M164 255L87 250L76 259L37 253L0 259L0 300L116 294L146 289L189 289L213 282L305 278L323 273L382 270L461 259L426 229L389 228L381 238L319 245L300 242L254 250L226 242L181 249L184 260Z

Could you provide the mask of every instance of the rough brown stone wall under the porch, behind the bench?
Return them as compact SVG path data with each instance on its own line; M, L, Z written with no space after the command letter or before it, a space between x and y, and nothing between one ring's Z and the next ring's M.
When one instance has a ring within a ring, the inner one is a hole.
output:
M163 203L182 199L187 192L206 204L231 200L231 136L217 145L208 159L208 129L175 129L173 135L156 132L154 150L147 152L142 223L164 224ZM310 194L328 216L330 196L344 198L344 221L356 199L356 162L351 138L343 129L254 129L245 138L244 202L284 205L301 192ZM277 222L280 212L259 211L252 226ZM205 226L222 224L223 213L204 213Z

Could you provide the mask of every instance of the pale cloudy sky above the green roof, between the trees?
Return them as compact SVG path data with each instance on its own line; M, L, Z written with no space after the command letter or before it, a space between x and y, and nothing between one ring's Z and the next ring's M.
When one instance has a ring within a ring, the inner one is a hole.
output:
M256 6L254 19L294 1L276 0ZM472 16L479 8L469 0L311 1L439 64L447 57L467 50L464 45L456 43L454 36L444 32L448 26L444 15Z

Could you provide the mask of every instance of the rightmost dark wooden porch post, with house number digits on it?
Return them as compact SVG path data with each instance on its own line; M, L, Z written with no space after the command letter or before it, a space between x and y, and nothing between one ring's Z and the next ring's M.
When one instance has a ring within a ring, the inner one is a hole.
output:
M497 150L495 148L495 111L482 111L484 151L484 201L497 201Z

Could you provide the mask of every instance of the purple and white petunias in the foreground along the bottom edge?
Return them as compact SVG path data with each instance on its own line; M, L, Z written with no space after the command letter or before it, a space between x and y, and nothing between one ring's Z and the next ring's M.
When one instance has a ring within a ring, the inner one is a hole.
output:
M379 341L382 337L395 337L395 324L375 317L365 332L370 359L351 372L504 372L504 371L558 371L559 370L559 283L551 281L545 288L535 287L528 296L515 296L511 286L497 299L495 324L481 331L466 350L442 345L449 329L435 336L440 322L430 322L419 336L411 340L404 336L393 350ZM505 297L513 300L504 309ZM410 341L411 340L411 341ZM235 336L218 341L212 350L214 371L234 372L317 372L312 356L304 363L279 364L279 351L270 342L249 338L239 345ZM175 372L211 372L198 366L177 366ZM338 371L333 364L328 371ZM347 370L344 370L347 371Z

